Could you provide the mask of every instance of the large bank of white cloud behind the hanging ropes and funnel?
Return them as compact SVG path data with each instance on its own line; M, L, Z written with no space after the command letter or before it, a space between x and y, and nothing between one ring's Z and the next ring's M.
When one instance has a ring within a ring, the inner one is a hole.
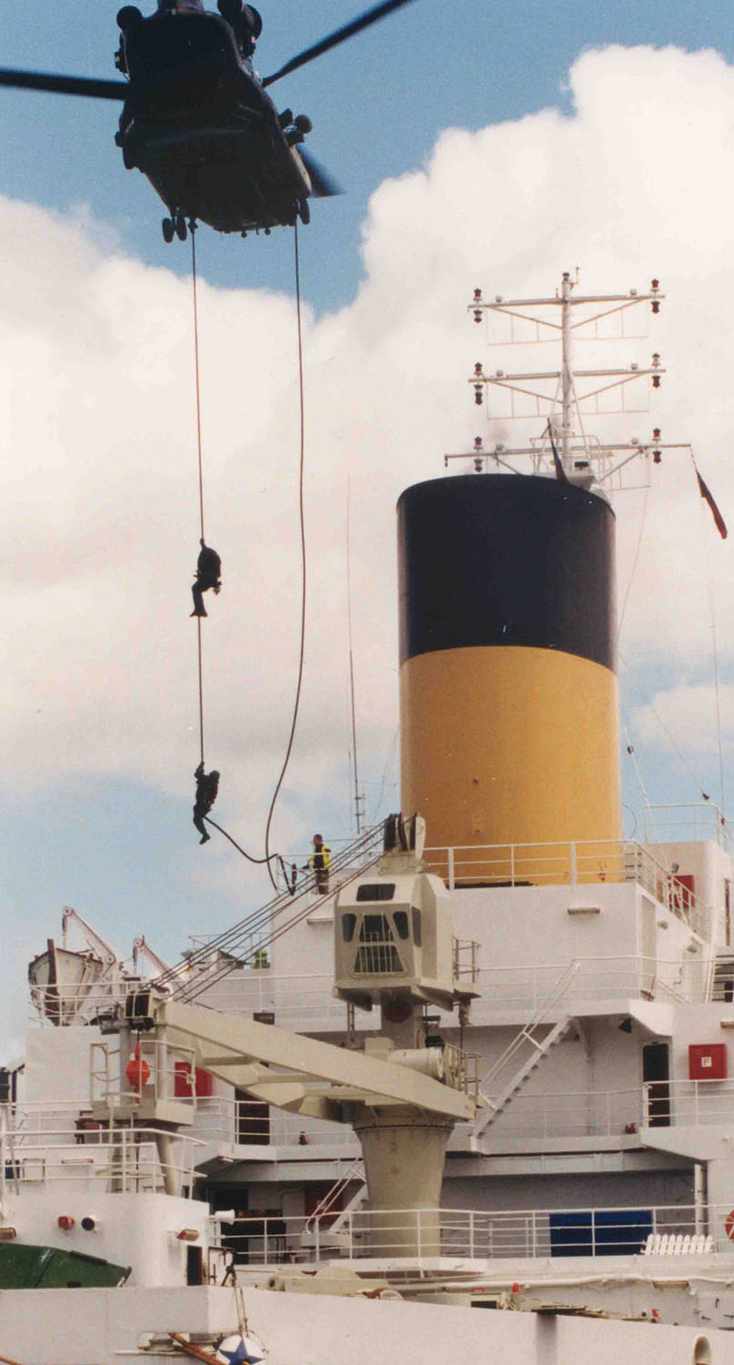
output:
M645 437L660 425L667 440L694 441L724 515L734 508L734 72L714 52L610 48L576 61L570 89L573 116L450 130L424 169L382 184L357 299L304 318L308 643L288 786L308 800L285 803L289 838L304 837L308 808L347 759L348 476L362 744L375 778L387 759L393 505L480 430L464 382L486 355L465 313L475 285L547 293L577 265L588 289L659 276L669 298L655 343L670 375L654 414L626 427ZM1 205L0 250L5 770L29 801L89 773L188 800L198 756L190 281L115 254L83 218L19 203ZM293 302L202 283L199 317L206 528L224 560L205 622L207 758L222 770L237 833L262 827L295 688ZM643 356L651 349L640 343ZM626 652L673 669L708 647L707 557L723 642L734 627L731 542L700 521L686 460L671 453L654 471L623 632ZM641 508L626 497L622 587ZM671 704L697 733L689 703L682 689Z

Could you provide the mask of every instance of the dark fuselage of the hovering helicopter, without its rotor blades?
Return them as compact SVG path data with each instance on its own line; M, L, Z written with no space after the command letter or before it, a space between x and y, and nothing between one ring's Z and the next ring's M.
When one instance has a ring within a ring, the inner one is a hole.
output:
M247 232L307 217L312 187L295 147L303 135L278 116L224 18L141 16L123 30L119 64L130 94L116 141L171 221Z

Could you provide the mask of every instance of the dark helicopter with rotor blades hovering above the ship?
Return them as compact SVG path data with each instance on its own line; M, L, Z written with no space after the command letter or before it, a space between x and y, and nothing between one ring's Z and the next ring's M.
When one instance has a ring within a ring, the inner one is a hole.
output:
M270 232L310 221L311 197L338 194L304 150L306 115L278 113L267 86L377 23L411 0L382 0L262 79L252 55L262 19L244 0L157 0L117 14L115 64L123 81L0 68L0 86L121 100L115 142L126 169L141 171L166 207L165 242L206 222L218 232Z

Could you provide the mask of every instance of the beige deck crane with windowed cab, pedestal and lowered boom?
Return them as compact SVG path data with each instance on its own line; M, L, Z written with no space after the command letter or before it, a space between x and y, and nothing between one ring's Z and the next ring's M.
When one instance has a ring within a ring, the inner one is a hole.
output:
M475 991L457 976L445 885L420 857L423 820L386 823L379 864L344 883L334 904L336 994L363 1009L381 1006L377 1037L353 1051L180 1003L153 983L124 1001L119 1052L109 1054L117 1077L111 1073L106 1096L93 1108L108 1123L154 1127L171 1194L171 1145L195 1112L195 1100L176 1097L176 1062L202 1067L255 1100L349 1123L364 1158L370 1235L383 1239L389 1226L390 1244L408 1254L417 1246L417 1211L439 1205L449 1136L478 1108L464 1054L428 1033L423 1007L467 1009ZM423 1249L427 1231L423 1215ZM435 1237L438 1244L438 1224Z

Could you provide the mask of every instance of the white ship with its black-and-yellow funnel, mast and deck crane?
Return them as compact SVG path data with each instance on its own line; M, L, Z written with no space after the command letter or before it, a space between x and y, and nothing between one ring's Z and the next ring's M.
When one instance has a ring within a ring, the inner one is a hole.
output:
M663 371L572 363L577 303L589 326L660 299L581 299L565 276L553 299L469 304L550 306L561 362L478 362L478 410L547 401L538 440L476 438L400 498L405 818L173 969L149 950L126 975L89 934L35 960L44 1026L3 1082L0 1272L11 1246L74 1253L96 1321L132 1314L106 1355L64 1355L23 1310L35 1365L166 1358L175 1331L194 1358L226 1358L229 1331L306 1365L456 1340L734 1361L731 831L705 803L622 837L608 493L664 446L602 444L583 415ZM61 1304L72 1272L45 1268ZM23 1293L0 1291L0 1354Z

